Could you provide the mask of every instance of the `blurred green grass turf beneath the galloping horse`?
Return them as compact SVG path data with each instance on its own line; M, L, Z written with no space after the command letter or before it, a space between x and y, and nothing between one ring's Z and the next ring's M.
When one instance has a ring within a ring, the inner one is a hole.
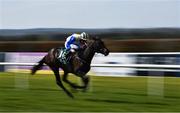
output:
M89 91L73 91L75 99L67 97L54 79L53 75L0 73L0 111L180 112L180 78L164 78L164 93L157 96L148 95L147 77L91 76Z

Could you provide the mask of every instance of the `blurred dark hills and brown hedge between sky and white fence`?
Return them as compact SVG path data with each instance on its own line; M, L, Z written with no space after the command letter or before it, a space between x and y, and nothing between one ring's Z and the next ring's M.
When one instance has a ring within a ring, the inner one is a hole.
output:
M180 51L180 29L29 29L0 30L1 51L48 51L64 47L72 33L98 36L112 52Z

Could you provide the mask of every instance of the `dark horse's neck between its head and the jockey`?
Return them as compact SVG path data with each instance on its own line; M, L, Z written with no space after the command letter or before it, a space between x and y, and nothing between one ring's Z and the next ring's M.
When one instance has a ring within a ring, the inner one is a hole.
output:
M84 50L83 53L83 60L86 61L86 63L91 64L91 61L95 55L93 42L89 44L89 46Z

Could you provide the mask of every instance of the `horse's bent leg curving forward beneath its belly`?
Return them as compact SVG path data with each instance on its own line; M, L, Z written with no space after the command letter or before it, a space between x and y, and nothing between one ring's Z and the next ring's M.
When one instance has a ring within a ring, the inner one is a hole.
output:
M74 88L74 89L78 89L78 88L79 88L79 89L83 89L83 88L85 88L85 86L79 86L79 85L77 85L77 84L75 84L75 83L70 82L70 81L67 79L67 77L68 77L68 73L64 71L63 81L66 82L66 83L68 83L72 88Z

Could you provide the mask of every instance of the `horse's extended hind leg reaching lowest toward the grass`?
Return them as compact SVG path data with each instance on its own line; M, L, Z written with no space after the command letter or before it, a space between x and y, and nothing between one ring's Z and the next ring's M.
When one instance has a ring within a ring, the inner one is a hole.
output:
M60 75L59 75L59 68L51 68L55 74L55 77L56 77L56 83L59 87L61 87L68 96L70 96L71 98L73 98L73 95L64 87L64 85L62 84L61 82L61 78L60 78Z

